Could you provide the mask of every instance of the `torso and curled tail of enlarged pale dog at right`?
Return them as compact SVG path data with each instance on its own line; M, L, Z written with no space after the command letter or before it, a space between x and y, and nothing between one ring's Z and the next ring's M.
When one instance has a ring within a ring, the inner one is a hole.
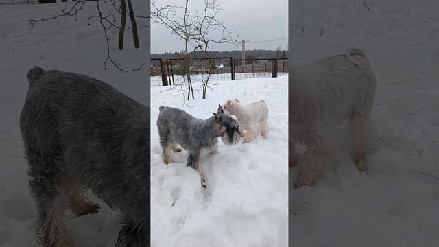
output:
M291 97L289 104L294 109L303 108L309 113L320 110L333 114L341 105L348 107L359 104L365 96L352 92L368 91L375 94L377 83L368 59L356 48L347 49L345 54L294 66L292 75L289 91L294 97ZM337 97L328 101L328 92L336 93ZM290 113L290 117L295 114L296 110Z

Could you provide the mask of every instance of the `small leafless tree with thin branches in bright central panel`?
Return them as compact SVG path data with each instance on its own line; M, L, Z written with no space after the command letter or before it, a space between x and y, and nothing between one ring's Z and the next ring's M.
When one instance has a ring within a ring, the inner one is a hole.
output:
M233 38L233 32L230 32L222 21L219 21L217 14L221 9L216 0L205 0L202 14L195 10L195 14L189 11L189 0L185 1L184 6L158 5L156 0L152 0L152 19L153 23L164 25L172 34L185 42L184 58L185 82L187 83L187 100L195 99L193 80L191 78L191 64L189 56L189 46L193 48L194 58L210 59L211 43L237 43L237 38ZM219 33L219 38L213 38L213 32ZM200 55L198 55L200 54ZM197 91L202 91L202 98L206 98L206 91L210 88L209 80L211 78L212 68L208 67L208 73L202 72L202 86ZM201 67L201 71L204 71ZM182 87L183 89L183 87Z

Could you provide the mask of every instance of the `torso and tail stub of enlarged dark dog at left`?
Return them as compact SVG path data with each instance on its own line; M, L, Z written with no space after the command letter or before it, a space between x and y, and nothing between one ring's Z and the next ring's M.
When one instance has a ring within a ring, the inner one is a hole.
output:
M115 183L130 184L119 176L120 169L128 174L132 165L149 170L147 106L86 75L34 67L27 78L20 127L30 176L48 176L45 168L64 170L81 175L88 186L99 180L99 186L110 189ZM49 157L57 161L45 165L56 167L38 167L38 160ZM99 189L94 192L110 200Z

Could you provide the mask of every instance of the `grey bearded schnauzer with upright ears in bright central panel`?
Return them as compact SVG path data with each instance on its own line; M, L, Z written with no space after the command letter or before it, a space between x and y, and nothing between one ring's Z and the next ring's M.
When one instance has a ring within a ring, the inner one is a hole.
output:
M209 119L195 118L183 110L160 106L157 118L158 135L162 147L162 158L165 164L172 162L171 150L180 152L182 148L189 152L187 166L200 174L201 185L206 187L206 178L199 165L200 154L204 148L209 148L212 154L218 151L218 139L221 137L226 145L235 145L239 141L238 122L224 114L218 104L217 113Z

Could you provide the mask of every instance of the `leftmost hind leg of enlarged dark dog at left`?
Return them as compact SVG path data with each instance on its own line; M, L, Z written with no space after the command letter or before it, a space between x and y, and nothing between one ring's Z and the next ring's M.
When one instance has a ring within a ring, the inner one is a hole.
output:
M28 152L29 153L29 152ZM33 152L39 157L29 159L30 193L36 204L36 234L40 242L47 247L71 247L67 235L64 210L68 208L67 189L62 175L56 168L53 155Z

